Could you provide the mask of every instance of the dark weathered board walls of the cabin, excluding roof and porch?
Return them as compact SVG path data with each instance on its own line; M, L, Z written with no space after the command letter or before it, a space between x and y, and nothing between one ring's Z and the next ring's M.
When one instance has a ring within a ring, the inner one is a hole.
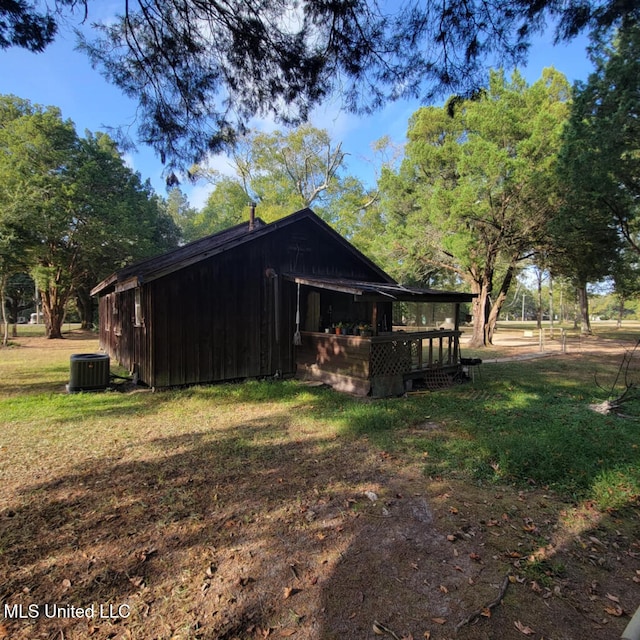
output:
M296 285L282 275L380 279L319 231L302 218L150 277L141 286L141 326L134 326L134 289L103 295L101 314L111 314L101 322L103 348L153 387L294 374Z

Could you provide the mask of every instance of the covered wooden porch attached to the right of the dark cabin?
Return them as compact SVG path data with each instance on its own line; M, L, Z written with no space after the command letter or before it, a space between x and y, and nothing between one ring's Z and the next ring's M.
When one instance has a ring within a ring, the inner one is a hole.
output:
M357 395L400 395L462 375L460 325L472 294L288 276L297 286L297 377Z

